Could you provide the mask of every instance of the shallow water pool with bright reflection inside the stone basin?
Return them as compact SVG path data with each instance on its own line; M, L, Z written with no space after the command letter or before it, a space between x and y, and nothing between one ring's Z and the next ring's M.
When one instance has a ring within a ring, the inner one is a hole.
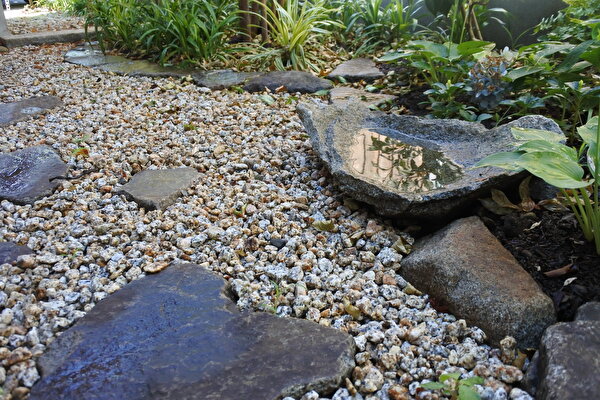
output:
M361 178L399 192L428 192L458 180L462 169L444 153L362 129L348 149L349 166Z

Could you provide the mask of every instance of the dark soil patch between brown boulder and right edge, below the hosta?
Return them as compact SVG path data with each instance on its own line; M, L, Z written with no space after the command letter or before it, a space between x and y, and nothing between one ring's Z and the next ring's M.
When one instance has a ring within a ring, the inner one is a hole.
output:
M600 300L600 256L583 237L572 213L536 210L497 216L482 209L479 214L552 298L559 321L573 320L579 306ZM562 267L569 269L563 275L544 274Z

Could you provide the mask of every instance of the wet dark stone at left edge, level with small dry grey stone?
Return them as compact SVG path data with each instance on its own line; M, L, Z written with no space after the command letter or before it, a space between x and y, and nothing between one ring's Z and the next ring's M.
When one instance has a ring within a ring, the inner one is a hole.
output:
M0 154L0 200L31 204L52 194L69 167L48 146Z

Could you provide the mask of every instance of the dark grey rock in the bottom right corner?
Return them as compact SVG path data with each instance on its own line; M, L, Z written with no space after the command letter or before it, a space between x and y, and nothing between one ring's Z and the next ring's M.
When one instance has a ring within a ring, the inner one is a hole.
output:
M546 330L525 376L536 399L600 399L599 310L599 303L588 303L574 322Z

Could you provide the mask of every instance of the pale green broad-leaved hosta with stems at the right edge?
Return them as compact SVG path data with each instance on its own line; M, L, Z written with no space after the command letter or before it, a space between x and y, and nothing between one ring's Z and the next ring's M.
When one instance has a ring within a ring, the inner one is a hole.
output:
M513 128L519 146L510 152L493 154L476 167L493 166L508 170L527 170L561 190L586 240L594 242L600 254L600 204L598 175L600 165L600 124L598 117L590 118L577 129L584 146L578 152L568 147L561 134ZM581 159L586 160L581 163ZM583 165L582 165L583 164ZM585 168L584 168L585 167Z

